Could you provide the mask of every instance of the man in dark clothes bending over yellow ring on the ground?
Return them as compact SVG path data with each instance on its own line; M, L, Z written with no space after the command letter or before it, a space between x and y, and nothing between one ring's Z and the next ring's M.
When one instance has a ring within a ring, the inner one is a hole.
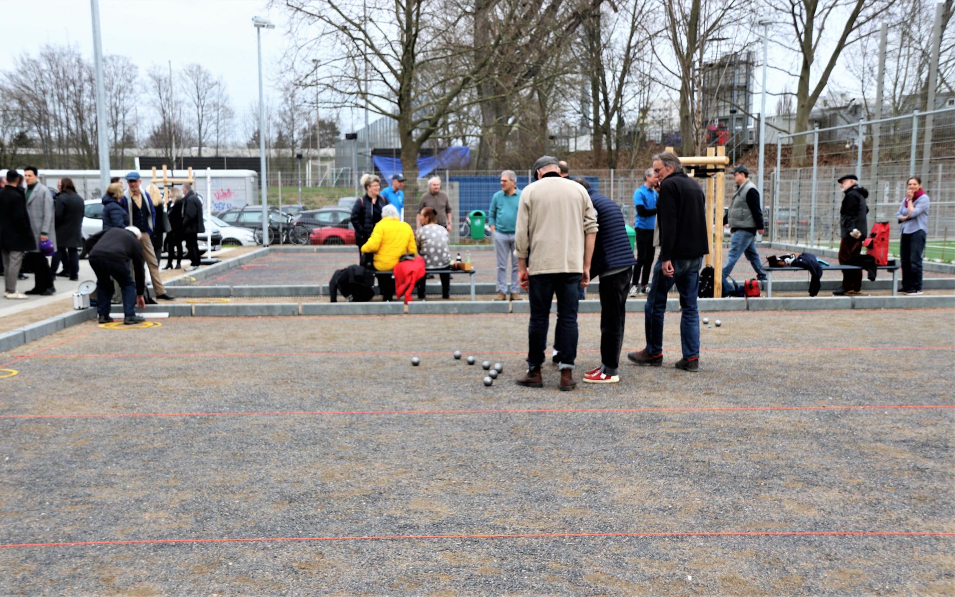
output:
M136 226L108 228L86 239L90 255L90 267L96 272L96 312L100 323L110 323L110 306L113 299L113 280L122 293L123 320L126 325L140 323L145 319L136 314L136 307L146 306L143 296L146 290L146 262L139 239L142 233ZM133 261L136 284L129 275L128 261Z

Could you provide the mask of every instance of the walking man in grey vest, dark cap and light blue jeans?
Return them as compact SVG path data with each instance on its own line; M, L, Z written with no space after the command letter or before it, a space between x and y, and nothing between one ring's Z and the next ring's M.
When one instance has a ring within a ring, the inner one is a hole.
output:
M732 177L736 181L736 194L730 201L730 209L726 214L730 224L730 255L723 266L723 289L730 289L729 281L732 268L744 253L753 264L756 279L766 279L762 261L756 252L756 233L763 233L763 210L759 205L759 191L750 181L750 171L740 164L732 170Z

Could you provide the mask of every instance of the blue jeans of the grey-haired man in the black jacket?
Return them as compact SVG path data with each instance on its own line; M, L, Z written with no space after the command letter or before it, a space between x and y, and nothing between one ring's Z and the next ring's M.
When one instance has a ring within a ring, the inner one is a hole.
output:
M667 293L676 284L680 291L680 343L684 359L700 356L700 313L696 309L696 296L700 289L700 266L703 257L673 259L673 276L663 275L660 260L653 265L653 281L644 307L644 326L647 332L647 353L663 354L663 317L667 312Z

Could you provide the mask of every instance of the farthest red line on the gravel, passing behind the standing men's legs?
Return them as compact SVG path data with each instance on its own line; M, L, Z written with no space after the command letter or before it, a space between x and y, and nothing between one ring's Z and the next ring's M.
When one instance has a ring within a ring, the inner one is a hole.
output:
M72 340L72 339L67 339ZM64 340L66 341L66 340ZM53 346L50 346L53 348ZM44 349L49 350L49 348ZM856 350L955 350L955 346L772 346L772 347L736 347L728 346L723 348L701 348L700 352L774 352L774 351L856 351ZM523 355L526 350L477 350L472 352L474 355ZM578 350L578 353L599 353L600 350ZM395 351L388 353L389 356L435 356L447 355L449 351ZM21 355L20 359L36 357L39 359L126 359L136 357L161 358L161 357L211 357L215 359L236 358L249 359L253 357L377 357L381 356L381 351L314 351L314 352L283 352L283 353L123 353L123 354L57 354L57 355ZM12 361L11 361L12 362ZM2 365L0 365L2 366Z

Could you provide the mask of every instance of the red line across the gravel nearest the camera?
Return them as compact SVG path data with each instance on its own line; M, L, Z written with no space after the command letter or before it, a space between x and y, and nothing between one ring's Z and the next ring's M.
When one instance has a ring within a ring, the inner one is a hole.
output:
M486 535L369 535L354 537L254 537L248 539L133 539L128 541L72 541L63 543L24 543L0 545L11 547L130 546L183 543L251 543L296 541L388 541L422 539L567 539L606 537L955 537L955 532L891 531L891 530L806 530L806 531L661 531L637 533L527 533Z

